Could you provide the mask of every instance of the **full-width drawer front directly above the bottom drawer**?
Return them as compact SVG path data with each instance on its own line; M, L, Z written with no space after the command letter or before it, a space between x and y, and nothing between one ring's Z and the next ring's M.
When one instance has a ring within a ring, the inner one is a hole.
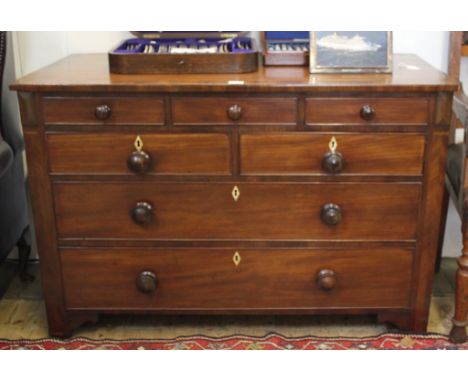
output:
M411 240L420 199L415 183L60 182L54 192L60 237L136 239Z

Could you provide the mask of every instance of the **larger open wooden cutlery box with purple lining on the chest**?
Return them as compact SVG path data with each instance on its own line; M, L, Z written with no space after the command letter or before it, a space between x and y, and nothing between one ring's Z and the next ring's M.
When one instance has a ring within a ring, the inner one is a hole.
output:
M240 32L133 32L109 52L119 74L248 73L258 68L255 41Z

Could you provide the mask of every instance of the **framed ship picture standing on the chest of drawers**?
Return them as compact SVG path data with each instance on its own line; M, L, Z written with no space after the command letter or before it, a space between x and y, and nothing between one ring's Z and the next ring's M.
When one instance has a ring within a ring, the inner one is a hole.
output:
M310 32L311 73L391 73L392 32Z

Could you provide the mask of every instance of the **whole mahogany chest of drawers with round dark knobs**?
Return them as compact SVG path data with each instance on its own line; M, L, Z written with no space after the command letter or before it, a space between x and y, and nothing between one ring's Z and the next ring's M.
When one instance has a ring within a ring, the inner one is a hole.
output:
M18 91L49 329L103 313L375 314L424 331L452 92L393 75L112 75Z

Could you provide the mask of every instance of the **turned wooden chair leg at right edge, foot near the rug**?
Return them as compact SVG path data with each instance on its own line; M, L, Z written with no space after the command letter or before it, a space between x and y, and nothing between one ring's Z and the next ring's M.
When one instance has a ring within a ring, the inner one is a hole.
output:
M458 259L455 294L455 315L450 339L456 343L466 342L468 325L468 216L463 218L463 253Z

